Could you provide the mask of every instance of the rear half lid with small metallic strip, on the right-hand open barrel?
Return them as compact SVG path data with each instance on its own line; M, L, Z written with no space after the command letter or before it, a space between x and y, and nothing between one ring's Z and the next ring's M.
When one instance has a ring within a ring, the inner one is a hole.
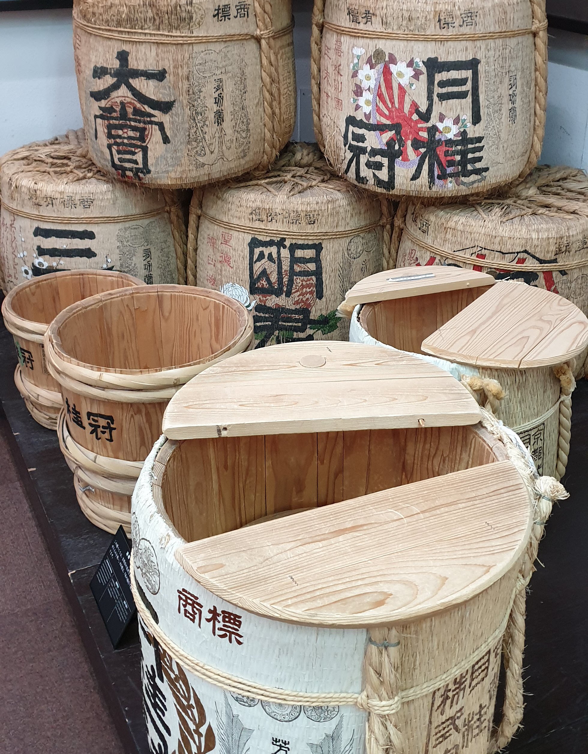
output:
M493 284L494 277L491 275L461 267L404 267L377 272L359 280L359 283L347 291L342 306L353 308L358 304L374 301L408 299L410 296L426 296L429 293Z

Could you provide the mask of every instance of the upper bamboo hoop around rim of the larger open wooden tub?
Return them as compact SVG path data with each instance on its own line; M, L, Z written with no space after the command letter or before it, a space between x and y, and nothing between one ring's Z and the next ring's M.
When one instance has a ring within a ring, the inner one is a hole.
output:
M195 375L208 369L209 366L214 366L214 364L230 356L245 351L252 339L253 317L249 314L247 325L241 336L233 339L222 351L217 351L214 357L200 360L198 363L189 366L162 369L159 372L146 372L145 374L133 374L131 370L127 374L94 371L94 369L88 369L87 366L79 366L65 361L57 354L49 334L45 335L44 345L49 371L51 376L57 379L57 382L65 384L63 380L69 378L72 382L75 381L76 384L87 388L88 391L94 391L93 397L96 397L95 391L100 391L100 394L103 395L108 393L112 394L113 397L121 396L115 400L121 400L122 403L143 403L143 400L147 400L148 397L152 397L153 400L169 400L181 385L185 385ZM146 388L152 388L152 390L149 391ZM77 392L82 395L89 395L89 393ZM122 397L123 394L127 397Z

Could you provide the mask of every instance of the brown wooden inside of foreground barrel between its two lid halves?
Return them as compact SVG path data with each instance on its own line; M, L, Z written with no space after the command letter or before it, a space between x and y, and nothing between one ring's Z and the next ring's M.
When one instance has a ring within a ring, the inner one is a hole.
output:
M504 458L479 425L168 440L153 488L180 536L195 541Z

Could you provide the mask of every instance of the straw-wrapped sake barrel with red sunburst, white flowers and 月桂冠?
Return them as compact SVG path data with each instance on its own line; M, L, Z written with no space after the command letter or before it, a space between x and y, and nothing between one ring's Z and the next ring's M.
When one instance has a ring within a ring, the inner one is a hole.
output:
M316 139L349 181L445 199L537 163L544 0L315 0L312 22Z

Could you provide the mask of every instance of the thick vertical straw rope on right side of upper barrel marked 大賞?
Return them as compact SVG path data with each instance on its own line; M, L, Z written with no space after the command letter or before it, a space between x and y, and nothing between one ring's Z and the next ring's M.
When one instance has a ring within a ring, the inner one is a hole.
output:
M259 170L267 170L279 152L280 123L274 99L278 96L278 58L272 36L272 0L254 0L257 39L260 43L261 93L263 98L263 159Z

